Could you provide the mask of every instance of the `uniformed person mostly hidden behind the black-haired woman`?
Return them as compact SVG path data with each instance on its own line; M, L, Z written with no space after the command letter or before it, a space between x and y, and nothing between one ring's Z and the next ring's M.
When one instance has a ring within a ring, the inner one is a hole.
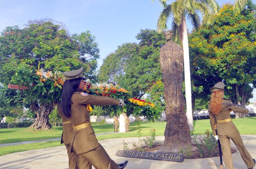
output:
M62 112L61 105L59 102L57 103L57 112L60 115L60 117L62 119L62 124L63 124L63 132L62 132L60 144L64 143L66 146L66 149L68 152L68 167L69 167L69 169L79 169L79 168L83 168L83 166L91 165L87 161L85 161L83 158L75 155L71 151L70 142L71 142L71 139L73 136L73 128L72 128L68 118ZM77 160L78 163L76 163L76 159L79 159L79 160Z

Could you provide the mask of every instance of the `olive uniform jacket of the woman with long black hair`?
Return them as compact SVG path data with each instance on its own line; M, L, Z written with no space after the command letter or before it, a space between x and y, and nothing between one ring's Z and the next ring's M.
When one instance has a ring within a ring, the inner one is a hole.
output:
M111 97L101 97L89 95L81 91L76 91L71 97L71 117L69 118L72 126L77 126L86 122L90 122L87 104L90 105L118 105L119 101ZM86 153L100 146L93 128L87 127L74 131L71 141L72 150L76 154Z

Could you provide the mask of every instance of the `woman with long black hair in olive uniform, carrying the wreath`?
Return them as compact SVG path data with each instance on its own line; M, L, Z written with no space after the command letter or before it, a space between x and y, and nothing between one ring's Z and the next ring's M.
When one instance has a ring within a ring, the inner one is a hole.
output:
M63 113L68 117L74 136L71 140L71 151L85 161L93 165L96 169L123 169L128 161L116 164L110 159L105 149L99 144L94 130L90 123L87 105L120 105L124 101L111 97L101 97L83 93L86 83L83 81L83 68L62 73L65 76L61 97L61 107ZM79 160L79 159L76 159ZM91 169L91 165L84 168Z

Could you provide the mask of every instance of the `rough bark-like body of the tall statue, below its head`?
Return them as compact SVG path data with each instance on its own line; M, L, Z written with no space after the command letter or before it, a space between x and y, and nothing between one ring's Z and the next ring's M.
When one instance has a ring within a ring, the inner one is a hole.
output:
M183 62L183 52L180 45L168 41L161 47L160 64L164 82L167 124L165 140L159 148L159 152L178 153L180 148L192 147L182 93Z

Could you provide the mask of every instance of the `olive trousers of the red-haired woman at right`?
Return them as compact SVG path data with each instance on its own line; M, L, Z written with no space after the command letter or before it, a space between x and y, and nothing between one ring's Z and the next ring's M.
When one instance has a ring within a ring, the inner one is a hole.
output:
M242 159L244 160L244 163L246 164L246 166L248 168L251 168L254 166L252 157L246 150L239 132L235 132L233 134L227 134L227 135L218 135L218 136L219 136L219 141L221 143L221 150L223 153L223 159L224 159L226 169L234 169L233 162L232 162L230 139L235 143L235 146L239 150L239 153Z

